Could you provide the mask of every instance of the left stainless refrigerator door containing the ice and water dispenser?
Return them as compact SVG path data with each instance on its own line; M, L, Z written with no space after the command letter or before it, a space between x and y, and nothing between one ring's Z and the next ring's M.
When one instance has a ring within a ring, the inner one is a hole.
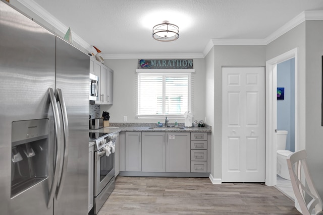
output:
M55 36L0 1L0 38L0 213L52 214Z

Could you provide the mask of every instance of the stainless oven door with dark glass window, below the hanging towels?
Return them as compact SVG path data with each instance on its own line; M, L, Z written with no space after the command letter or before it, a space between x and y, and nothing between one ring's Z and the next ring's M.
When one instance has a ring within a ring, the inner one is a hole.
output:
M94 159L94 196L98 196L115 175L114 153L107 157L101 149L95 152Z

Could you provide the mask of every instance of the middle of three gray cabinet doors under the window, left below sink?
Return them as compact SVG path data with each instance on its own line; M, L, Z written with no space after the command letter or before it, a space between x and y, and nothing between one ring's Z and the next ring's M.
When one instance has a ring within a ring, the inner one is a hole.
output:
M142 132L142 172L166 172L166 132Z

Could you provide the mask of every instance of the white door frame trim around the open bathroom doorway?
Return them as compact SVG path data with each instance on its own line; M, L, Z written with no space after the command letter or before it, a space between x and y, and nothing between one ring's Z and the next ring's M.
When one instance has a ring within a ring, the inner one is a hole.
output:
M266 61L266 173L265 184L277 185L277 67L279 63L294 58L294 151L298 150L298 48Z

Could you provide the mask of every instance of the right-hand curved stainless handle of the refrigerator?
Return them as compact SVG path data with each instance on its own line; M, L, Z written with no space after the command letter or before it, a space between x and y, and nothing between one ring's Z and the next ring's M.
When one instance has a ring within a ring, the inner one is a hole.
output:
M63 118L63 134L64 134L64 157L63 157L63 165L62 168L62 174L61 179L58 183L58 189L56 193L56 199L59 200L62 191L63 191L63 183L65 181L66 176L66 169L67 169L67 163L68 163L68 145L69 145L69 123L67 118L67 111L66 111L66 105L63 97L63 93L61 89L56 90L58 101L60 102L61 111L62 111L62 118Z

